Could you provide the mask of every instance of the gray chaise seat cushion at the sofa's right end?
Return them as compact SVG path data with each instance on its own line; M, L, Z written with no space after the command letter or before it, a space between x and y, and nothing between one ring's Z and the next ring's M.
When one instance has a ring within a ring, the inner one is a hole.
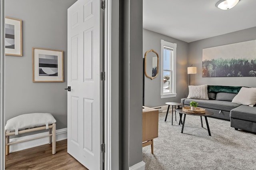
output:
M256 122L256 107L240 105L230 111L230 117L245 121Z

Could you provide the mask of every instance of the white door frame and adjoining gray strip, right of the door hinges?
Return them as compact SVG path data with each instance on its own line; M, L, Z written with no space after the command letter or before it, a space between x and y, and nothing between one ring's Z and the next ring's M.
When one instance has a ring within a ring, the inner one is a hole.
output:
M105 170L119 169L119 0L106 0L104 12Z

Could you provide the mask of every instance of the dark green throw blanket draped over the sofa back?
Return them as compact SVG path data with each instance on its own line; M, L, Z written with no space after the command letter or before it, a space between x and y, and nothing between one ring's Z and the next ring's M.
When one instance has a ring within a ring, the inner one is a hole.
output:
M221 86L221 85L208 85L208 92L225 92L225 93L238 93L242 87L236 86Z

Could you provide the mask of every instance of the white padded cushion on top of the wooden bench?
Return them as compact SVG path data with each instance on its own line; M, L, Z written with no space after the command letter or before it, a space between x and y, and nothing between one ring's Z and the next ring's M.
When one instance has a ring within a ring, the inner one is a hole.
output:
M52 123L56 123L56 120L50 113L29 113L9 119L6 122L5 130L48 126Z

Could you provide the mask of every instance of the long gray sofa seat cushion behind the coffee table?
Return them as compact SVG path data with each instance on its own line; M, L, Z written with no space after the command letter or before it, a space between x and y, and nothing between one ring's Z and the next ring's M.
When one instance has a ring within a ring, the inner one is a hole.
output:
M200 99L185 99L184 104L189 105L190 101L198 102L198 107L204 107L209 109L216 109L221 111L230 111L239 105L230 101L218 101L218 100L200 100Z

